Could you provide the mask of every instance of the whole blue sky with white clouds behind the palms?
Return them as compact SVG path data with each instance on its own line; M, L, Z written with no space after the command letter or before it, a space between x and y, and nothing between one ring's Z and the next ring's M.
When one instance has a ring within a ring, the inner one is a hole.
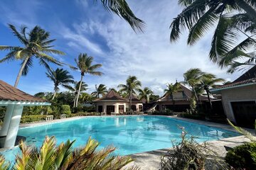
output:
M3 0L0 6L0 45L20 45L7 27L11 23L19 28L38 25L50 32L55 49L65 56L59 60L75 64L80 52L95 57L95 63L103 65L102 77L85 76L91 92L95 84L116 88L124 84L129 75L135 75L143 86L149 86L156 94L163 94L167 83L183 81L183 73L192 67L233 80L241 74L226 74L208 59L212 33L208 33L196 45L186 45L186 33L175 44L169 42L169 25L181 11L176 0L127 0L137 17L146 22L144 33L134 33L122 18L105 11L94 0ZM0 52L4 57L6 52ZM21 62L0 64L0 79L14 84ZM57 68L55 65L51 65ZM79 72L68 69L76 80ZM35 94L53 91L53 83L46 77L46 69L34 60L33 68L21 77L18 88Z

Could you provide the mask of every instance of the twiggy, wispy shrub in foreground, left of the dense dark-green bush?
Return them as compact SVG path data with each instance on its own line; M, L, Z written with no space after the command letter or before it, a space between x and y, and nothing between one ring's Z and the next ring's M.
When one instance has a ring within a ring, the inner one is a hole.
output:
M194 137L186 139L186 132L181 134L182 140L178 144L173 144L173 149L169 150L164 157L161 157L162 170L205 170L220 169L218 155L209 149L204 142L199 144Z

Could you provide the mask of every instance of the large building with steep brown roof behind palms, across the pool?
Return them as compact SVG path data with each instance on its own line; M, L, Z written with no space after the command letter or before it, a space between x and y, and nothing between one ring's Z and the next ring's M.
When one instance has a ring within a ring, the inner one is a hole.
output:
M149 108L148 111L166 111L166 109L169 109L171 111L176 112L182 112L186 111L186 109L190 108L191 103L191 97L192 97L192 91L191 89L188 89L188 87L181 84L181 90L174 92L173 98L169 94L164 94L161 98L157 99L156 101L150 103L151 108ZM200 95L199 101L202 103L202 105L206 105L208 103L207 96ZM210 98L213 98L210 96Z

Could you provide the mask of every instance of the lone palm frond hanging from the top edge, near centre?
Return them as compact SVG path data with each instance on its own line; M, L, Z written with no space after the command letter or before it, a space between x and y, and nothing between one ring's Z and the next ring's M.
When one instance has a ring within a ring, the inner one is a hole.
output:
M107 11L112 11L118 16L124 18L134 31L143 32L145 25L144 21L134 15L125 0L101 0L101 2Z

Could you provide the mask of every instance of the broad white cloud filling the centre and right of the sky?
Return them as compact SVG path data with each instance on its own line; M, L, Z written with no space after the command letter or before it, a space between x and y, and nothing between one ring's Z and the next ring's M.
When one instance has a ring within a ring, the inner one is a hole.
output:
M186 34L175 44L169 42L169 25L178 10L176 2L137 1L131 4L137 16L146 21L144 34L136 34L124 20L113 16L107 24L90 21L80 23L80 31L99 33L107 40L110 52L102 60L105 77L100 82L107 86L124 83L129 75L135 75L144 86L157 94L163 94L167 83L183 81L183 73L192 67L218 77L233 79L217 64L209 61L208 52L212 34L206 35L193 47L186 45Z

